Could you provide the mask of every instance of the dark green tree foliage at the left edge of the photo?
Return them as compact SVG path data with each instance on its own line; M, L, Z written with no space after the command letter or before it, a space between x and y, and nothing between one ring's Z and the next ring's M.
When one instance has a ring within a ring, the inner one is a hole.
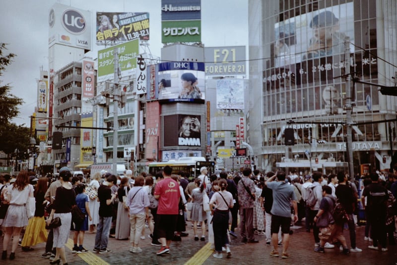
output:
M0 43L0 76L16 56L13 53L3 55L5 50L7 50L6 44ZM11 87L8 84L2 85L0 80L0 151L12 154L15 149L18 149L24 154L29 148L29 129L10 122L18 115L18 106L23 103L23 100L11 94L10 91Z

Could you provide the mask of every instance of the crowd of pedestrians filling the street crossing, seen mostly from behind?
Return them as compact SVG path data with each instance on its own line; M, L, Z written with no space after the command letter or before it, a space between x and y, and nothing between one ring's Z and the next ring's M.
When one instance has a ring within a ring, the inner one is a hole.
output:
M145 227L161 256L171 252L172 241L189 235L186 226L190 224L190 240L209 242L214 258L223 258L223 253L226 258L232 256L230 237L255 244L259 243L256 235L264 235L264 245L271 246L270 256L288 259L290 228L303 220L306 232L313 233L315 252L338 247L342 254L360 253L363 250L356 242L359 202L365 211L368 249L386 252L388 245L396 244L396 171L397 166L387 180L377 173L363 176L361 193L344 172L300 176L245 168L241 173L208 175L202 167L192 181L188 173L176 175L165 166L155 176L101 172L88 183L82 176L71 178L66 167L60 169L59 179L36 178L26 171L16 178L4 175L0 177L0 209L4 210L3 205L8 209L0 215L1 259L15 259L18 243L22 251L32 251L32 246L46 242L42 257L50 258L50 264L67 264L65 244L72 230L72 253L89 251L84 247L86 232L95 233L94 253L111 253L109 238L129 240L130 252L141 253ZM31 198L35 210L29 216ZM76 212L83 218L78 219ZM349 231L349 244L343 229Z

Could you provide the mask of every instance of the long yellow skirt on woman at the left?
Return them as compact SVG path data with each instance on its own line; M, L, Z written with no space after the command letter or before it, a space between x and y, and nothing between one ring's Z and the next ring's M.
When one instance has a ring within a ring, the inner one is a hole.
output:
M42 242L47 242L47 236L46 221L44 220L44 217L32 217L29 219L21 246L29 247Z

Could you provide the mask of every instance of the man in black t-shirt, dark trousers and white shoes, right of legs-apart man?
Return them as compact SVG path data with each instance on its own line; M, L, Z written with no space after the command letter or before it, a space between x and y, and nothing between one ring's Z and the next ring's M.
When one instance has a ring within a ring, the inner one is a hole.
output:
M356 225L354 224L353 219L354 203L357 201L357 199L354 195L353 189L347 182L347 176L345 173L343 171L338 172L337 178L339 185L337 185L335 188L335 195L342 204L348 216L347 226L349 227L350 234L350 252L362 252L362 250L356 246Z

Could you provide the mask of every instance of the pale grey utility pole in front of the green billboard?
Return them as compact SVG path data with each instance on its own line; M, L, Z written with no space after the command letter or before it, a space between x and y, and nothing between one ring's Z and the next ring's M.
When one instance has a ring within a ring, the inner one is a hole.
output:
M113 88L113 163L112 172L113 175L117 176L117 145L119 143L118 133L119 121L119 53L117 47L114 48L114 88Z

